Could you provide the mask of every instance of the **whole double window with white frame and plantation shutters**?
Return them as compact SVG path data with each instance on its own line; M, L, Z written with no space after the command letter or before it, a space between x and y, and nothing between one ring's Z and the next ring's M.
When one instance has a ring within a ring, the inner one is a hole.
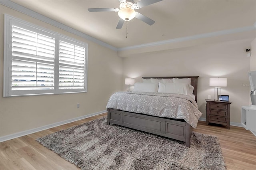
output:
M4 36L4 97L86 92L86 43L8 15Z

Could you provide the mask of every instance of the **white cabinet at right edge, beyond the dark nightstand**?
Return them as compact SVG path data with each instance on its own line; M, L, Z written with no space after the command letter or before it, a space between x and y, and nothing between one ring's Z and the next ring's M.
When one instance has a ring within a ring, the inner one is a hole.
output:
M256 136L256 107L242 106L241 124Z

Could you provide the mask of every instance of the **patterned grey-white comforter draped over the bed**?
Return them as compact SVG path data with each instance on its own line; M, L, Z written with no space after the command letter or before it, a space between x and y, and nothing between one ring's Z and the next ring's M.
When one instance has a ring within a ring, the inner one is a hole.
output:
M116 92L108 100L106 108L184 119L194 128L202 115L192 97L172 93Z

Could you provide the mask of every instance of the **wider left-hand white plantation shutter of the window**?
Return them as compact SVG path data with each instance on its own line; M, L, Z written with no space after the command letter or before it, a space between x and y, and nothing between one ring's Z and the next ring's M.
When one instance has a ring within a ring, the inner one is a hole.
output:
M55 39L50 36L12 26L12 90L54 89Z

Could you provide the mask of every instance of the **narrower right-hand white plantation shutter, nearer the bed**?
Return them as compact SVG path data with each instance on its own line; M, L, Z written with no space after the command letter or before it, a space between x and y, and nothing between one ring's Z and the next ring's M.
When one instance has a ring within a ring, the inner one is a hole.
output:
M60 41L59 89L85 88L85 46L68 40Z

